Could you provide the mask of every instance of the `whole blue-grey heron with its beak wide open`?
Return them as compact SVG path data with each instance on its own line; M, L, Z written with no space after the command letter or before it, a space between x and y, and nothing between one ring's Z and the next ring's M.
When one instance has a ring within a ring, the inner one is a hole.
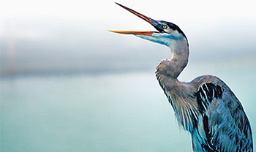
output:
M213 75L196 77L190 82L178 80L189 61L189 42L181 28L118 5L150 23L157 31L109 31L133 34L170 48L170 58L159 61L155 75L173 107L178 125L192 137L192 150L252 152L249 119L241 102L224 81Z

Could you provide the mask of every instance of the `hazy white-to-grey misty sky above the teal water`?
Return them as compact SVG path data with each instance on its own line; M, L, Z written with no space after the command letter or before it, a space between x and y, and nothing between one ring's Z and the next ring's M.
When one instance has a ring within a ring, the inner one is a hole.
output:
M256 13L250 2L120 1L180 26L189 39L189 64L238 66L255 64ZM1 6L1 76L145 71L170 56L165 46L110 33L155 30L113 1L12 3Z

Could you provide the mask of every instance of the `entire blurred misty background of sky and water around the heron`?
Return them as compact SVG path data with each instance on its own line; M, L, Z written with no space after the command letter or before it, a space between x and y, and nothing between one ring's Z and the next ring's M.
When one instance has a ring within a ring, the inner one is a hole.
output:
M155 31L114 2L1 2L0 151L192 151L154 76L170 50L109 32ZM116 2L177 24L190 47L178 79L224 80L255 139L254 1Z

